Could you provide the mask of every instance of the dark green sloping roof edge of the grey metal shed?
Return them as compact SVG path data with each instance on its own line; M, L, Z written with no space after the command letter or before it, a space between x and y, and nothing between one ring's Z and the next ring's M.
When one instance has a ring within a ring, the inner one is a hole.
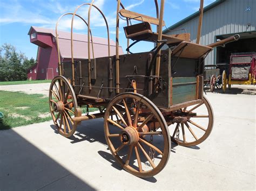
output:
M204 8L204 13L212 8L214 8L215 6L219 5L220 3L223 3L224 1L226 0L216 0L215 2L211 3L210 5L207 5L205 8ZM184 23L192 20L193 18L196 18L197 16L199 16L199 11L193 13L192 15L180 20L178 23L175 23L174 25L168 27L167 29L165 29L163 31L163 33L167 33L169 32L169 30L173 30L173 29L176 29L178 26L180 25L183 25Z

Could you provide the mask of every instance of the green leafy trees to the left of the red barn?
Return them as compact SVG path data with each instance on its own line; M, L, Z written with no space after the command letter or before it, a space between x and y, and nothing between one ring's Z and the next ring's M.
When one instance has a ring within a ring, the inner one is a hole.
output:
M27 70L35 63L24 53L17 53L16 47L3 44L0 48L0 81L26 80Z

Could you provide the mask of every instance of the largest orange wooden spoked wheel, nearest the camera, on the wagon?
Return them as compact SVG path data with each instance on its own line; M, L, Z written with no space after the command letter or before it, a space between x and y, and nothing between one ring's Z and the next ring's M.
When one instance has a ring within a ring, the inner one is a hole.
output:
M165 167L171 149L169 130L148 98L136 93L114 97L105 111L104 131L114 159L127 172L145 178Z

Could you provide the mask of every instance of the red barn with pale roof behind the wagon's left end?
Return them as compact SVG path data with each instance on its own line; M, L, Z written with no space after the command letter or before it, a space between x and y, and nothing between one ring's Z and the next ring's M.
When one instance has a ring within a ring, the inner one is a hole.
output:
M28 79L51 80L58 75L58 52L55 30L31 26L28 35L30 42L38 45L36 64L28 70ZM58 31L60 59L71 60L71 34L70 32ZM93 37L93 49L95 58L107 56L107 39ZM73 34L74 59L87 59L87 35ZM122 47L119 47L123 54ZM110 40L110 54L116 54L116 43ZM92 58L92 51L91 51Z

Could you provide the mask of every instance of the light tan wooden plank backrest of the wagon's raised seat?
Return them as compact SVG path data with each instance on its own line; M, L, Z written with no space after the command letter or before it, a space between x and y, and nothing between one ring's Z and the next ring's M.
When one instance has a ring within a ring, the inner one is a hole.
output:
M120 15L122 15L123 17L126 17L126 18L130 18L130 19L134 19L134 20L140 20L140 21L143 21L143 22L149 22L149 23L154 24L154 25L159 25L159 19L158 18L142 15L140 13L132 12L132 11L129 11L129 10L126 10L126 9L120 9L119 13L120 13ZM165 25L165 22L163 20L163 26L164 25Z

